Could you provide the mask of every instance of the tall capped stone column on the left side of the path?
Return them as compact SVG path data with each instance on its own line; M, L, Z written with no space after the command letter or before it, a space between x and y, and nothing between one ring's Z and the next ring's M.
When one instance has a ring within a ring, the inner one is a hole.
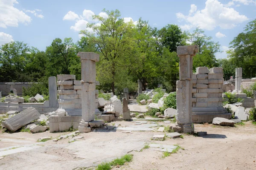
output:
M82 97L82 120L78 130L79 132L90 132L92 127L89 127L90 122L95 118L96 62L99 62L99 54L79 52L77 55L81 60Z

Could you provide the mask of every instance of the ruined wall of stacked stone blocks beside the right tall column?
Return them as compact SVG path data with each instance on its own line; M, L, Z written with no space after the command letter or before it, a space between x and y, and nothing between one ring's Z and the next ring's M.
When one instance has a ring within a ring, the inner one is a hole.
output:
M198 67L192 80L192 121L212 122L214 117L230 119L222 107L223 68Z

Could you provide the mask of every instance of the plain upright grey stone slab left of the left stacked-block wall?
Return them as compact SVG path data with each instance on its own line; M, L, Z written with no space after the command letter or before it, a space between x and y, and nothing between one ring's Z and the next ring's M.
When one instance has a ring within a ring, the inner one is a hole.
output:
M57 99L57 79L52 76L48 78L49 84L49 103L51 108L57 108L58 99Z

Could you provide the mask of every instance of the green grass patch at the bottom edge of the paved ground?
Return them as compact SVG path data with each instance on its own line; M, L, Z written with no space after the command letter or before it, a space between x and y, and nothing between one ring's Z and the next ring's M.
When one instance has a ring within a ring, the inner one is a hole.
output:
M125 162L130 162L132 161L133 155L131 154L126 154L122 156L121 158L114 159L111 162L103 162L99 164L95 170L111 170L113 166L116 165L124 165Z

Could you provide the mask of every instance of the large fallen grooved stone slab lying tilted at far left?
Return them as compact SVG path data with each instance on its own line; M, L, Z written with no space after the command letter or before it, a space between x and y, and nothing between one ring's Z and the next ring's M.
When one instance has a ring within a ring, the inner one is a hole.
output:
M19 114L7 119L2 122L3 127L6 129L15 132L21 127L29 124L30 122L38 119L40 117L40 113L35 108L27 108L26 110L20 112Z

